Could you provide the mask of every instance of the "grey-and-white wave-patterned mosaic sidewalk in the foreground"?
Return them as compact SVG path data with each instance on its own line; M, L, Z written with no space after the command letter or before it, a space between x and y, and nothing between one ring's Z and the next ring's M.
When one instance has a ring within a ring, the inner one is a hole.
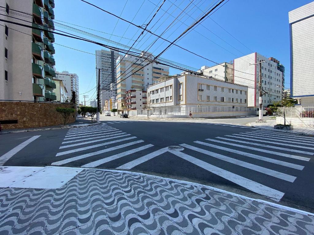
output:
M79 172L58 189L0 188L0 234L314 234L310 213L209 186L66 169Z

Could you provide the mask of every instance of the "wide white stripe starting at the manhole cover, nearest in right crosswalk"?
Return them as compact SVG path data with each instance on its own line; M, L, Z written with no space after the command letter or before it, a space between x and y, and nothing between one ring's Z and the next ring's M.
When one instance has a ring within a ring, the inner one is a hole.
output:
M209 172L214 173L215 175L219 175L220 177L223 177L233 183L236 183L237 185L240 185L248 190L251 190L253 192L256 192L258 194L268 196L270 198L273 198L275 201L280 201L280 199L284 196L283 192L280 192L278 190L272 189L270 187L267 187L265 185L262 185L260 183L257 183L253 180L249 180L245 177L242 177L240 175L236 175L230 171L221 169L217 166L211 165L207 162L204 162L200 159L194 158L188 154L182 153L180 151L169 151L178 157L185 159L205 170L208 170Z

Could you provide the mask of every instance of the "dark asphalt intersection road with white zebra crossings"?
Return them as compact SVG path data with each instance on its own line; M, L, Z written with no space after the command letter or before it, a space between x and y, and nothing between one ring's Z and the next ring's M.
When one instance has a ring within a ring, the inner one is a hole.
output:
M6 159L5 166L137 171L314 212L312 137L244 125L256 117L162 122L101 119L101 124L91 127L0 135L0 163ZM26 146L19 145L34 136L38 137ZM184 149L174 151L169 146Z

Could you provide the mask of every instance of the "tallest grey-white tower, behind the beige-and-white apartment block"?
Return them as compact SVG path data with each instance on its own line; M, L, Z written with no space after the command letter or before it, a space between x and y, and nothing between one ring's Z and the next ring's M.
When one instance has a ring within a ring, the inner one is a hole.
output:
M101 106L105 100L116 96L116 60L120 55L114 50L96 50L96 69L100 69ZM114 70L113 73L111 71ZM98 70L96 70L96 85L98 84Z

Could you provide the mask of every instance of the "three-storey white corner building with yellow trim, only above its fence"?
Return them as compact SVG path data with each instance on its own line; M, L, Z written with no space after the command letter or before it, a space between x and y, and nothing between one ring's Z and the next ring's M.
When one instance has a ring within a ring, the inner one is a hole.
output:
M246 108L247 86L196 75L165 76L147 89L152 107Z

